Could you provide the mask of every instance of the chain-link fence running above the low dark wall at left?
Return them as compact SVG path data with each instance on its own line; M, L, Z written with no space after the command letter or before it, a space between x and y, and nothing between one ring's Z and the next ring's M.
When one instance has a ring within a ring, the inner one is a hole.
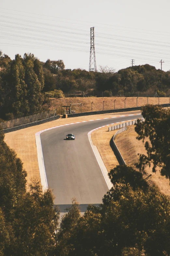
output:
M32 123L32 122L42 120L42 119L46 119L46 118L49 118L49 117L55 116L55 115L57 115L56 114L56 109L51 110L51 111L38 113L38 114L35 114L35 115L30 115L30 116L17 118L17 119L14 119L14 120L10 120L10 121L0 123L0 129L7 129L7 128L19 126L19 125Z

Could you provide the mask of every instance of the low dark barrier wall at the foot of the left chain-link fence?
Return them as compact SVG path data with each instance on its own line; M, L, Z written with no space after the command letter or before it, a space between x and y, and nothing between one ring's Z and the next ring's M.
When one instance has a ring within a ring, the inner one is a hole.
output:
M27 127L31 127L31 126L35 126L35 125L41 125L41 124L44 124L44 123L47 123L47 122L50 122L50 121L54 121L54 120L57 120L59 118L60 118L59 115L55 115L55 116L51 116L49 118L38 120L38 121L35 121L35 122L32 122L32 123L19 125L19 126L15 126L15 127L12 127L12 128L7 128L7 129L2 130L2 132L3 133L8 133L8 132L11 132L11 131L17 131L17 130L21 130L21 129L24 129L24 128L27 128Z

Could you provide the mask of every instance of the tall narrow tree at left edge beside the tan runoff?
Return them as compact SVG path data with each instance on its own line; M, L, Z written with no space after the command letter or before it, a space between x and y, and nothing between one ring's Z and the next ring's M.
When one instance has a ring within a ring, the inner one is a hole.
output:
M0 208L7 220L11 220L13 206L26 191L26 176L21 160L4 142L4 134L0 133Z

